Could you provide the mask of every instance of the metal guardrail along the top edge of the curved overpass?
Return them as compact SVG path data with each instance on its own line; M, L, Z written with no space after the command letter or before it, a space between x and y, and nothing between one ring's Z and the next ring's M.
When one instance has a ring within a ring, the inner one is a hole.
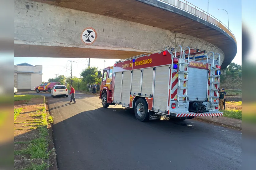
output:
M217 18L215 18L214 16L210 15L209 13L205 12L204 10L196 7L195 5L182 0L158 0L160 2L164 2L168 5L172 5L178 9L184 10L188 13L191 13L203 20L208 21L209 23L216 25L217 27L219 27L220 29L222 29L223 31L225 31L227 34L229 34L236 42L236 38L235 35L232 33L232 31L230 31L230 29L228 29L228 27L223 24L220 20L218 20Z

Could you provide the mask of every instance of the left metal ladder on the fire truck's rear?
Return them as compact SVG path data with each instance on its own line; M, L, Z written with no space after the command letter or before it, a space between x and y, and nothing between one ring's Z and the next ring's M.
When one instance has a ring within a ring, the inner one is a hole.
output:
M180 54L182 54L182 57L180 55L180 60L179 60L179 69L178 69L178 107L179 105L185 105L185 107L187 107L188 103L187 103L187 89L188 89L188 73L189 73L189 57L188 59L185 59L185 49L188 48L187 50L187 54L188 56L190 56L190 48L189 47L185 47L183 49L183 52L182 52L182 47L181 45L178 45L176 48L175 48L175 55L174 56L177 56L177 48L180 48L181 49L181 52L179 52ZM172 60L173 61L173 60ZM187 62L186 62L187 61ZM172 62L172 65L173 65L173 62ZM183 67L181 67L183 66ZM182 69L183 68L183 69ZM185 75L186 75L186 78L185 78ZM183 76L183 78L181 78L181 76ZM183 86L183 82L185 82L185 87ZM182 83L181 83L182 82ZM182 86L181 86L182 85ZM185 89L185 94L180 94L180 90L184 90ZM180 100L180 98L183 98L185 97L185 101L182 99Z

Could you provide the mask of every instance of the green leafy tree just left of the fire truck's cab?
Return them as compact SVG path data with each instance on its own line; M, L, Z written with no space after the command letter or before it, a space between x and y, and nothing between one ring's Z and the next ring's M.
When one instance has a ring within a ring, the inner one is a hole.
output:
M80 76L82 77L82 81L86 83L99 83L101 81L98 78L98 67L88 67L84 69Z

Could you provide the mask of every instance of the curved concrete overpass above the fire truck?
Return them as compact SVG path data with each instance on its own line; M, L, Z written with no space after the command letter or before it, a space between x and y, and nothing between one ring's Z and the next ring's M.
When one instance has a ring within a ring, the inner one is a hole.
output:
M223 24L212 17L205 20L205 15L197 17L198 11L197 16L188 13L182 4L180 9L157 0L15 0L14 4L14 56L124 59L180 44L218 52L226 67L237 52L235 37ZM90 45L81 41L86 27L97 32Z

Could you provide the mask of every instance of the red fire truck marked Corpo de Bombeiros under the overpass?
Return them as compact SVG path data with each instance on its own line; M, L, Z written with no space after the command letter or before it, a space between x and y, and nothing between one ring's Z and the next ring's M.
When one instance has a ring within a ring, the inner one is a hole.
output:
M178 120L222 116L218 110L220 55L185 49L182 51L178 45L174 52L174 48L166 47L105 68L100 91L102 106L133 108L139 121L161 116Z

